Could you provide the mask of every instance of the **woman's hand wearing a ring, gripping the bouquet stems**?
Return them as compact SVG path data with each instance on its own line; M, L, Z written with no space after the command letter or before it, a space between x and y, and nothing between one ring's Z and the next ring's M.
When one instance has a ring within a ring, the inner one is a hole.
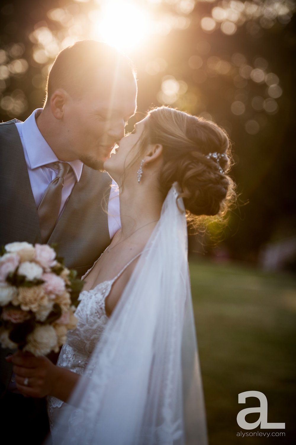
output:
M58 367L44 356L35 357L30 352L16 352L8 357L16 375L16 387L29 397L44 397L54 391Z

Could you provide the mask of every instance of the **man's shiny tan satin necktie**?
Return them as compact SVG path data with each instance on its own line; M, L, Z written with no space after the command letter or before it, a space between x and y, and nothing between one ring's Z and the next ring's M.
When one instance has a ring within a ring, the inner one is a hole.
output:
M62 201L64 178L71 169L67 162L59 162L59 171L45 190L37 208L42 243L47 243L55 227Z

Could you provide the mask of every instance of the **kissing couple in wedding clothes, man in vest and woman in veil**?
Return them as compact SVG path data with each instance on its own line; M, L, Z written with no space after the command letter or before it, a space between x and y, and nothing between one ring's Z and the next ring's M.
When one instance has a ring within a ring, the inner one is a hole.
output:
M56 444L207 443L186 217L233 200L229 138L167 107L124 136L136 95L131 62L84 40L55 59L43 109L0 125L1 244L58 243L86 283L56 365L3 356L1 418L31 443L45 396Z

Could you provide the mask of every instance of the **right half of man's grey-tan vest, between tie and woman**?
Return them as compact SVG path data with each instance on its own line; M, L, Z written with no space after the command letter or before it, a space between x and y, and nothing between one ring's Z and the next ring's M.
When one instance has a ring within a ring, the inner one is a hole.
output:
M83 166L63 214L59 218L48 244L58 242L59 255L67 267L82 275L110 244L108 216L101 201L110 194L111 178L107 173Z

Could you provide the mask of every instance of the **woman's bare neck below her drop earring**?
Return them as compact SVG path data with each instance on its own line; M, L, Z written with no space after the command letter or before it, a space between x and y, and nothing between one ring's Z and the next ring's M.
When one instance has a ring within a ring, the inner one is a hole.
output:
M155 226L162 210L158 190L139 186L137 190L124 188L119 194L122 235L128 236L140 227ZM155 224L153 224L155 223Z

